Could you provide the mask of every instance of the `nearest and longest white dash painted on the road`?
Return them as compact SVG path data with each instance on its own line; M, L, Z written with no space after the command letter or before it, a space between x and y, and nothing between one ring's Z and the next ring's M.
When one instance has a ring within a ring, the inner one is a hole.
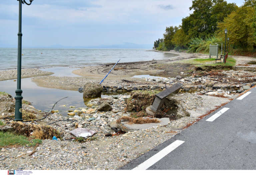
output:
M171 143L170 145L166 146L164 149L162 149L161 151L159 151L158 153L156 153L155 155L150 157L145 162L143 162L140 165L138 165L135 168L133 168L133 170L146 170L146 169L148 169L149 167L151 167L156 162L161 160L164 156L169 154L171 151L173 151L175 148L177 148L182 143L184 143L184 141L181 141L181 140L174 141L173 143Z

